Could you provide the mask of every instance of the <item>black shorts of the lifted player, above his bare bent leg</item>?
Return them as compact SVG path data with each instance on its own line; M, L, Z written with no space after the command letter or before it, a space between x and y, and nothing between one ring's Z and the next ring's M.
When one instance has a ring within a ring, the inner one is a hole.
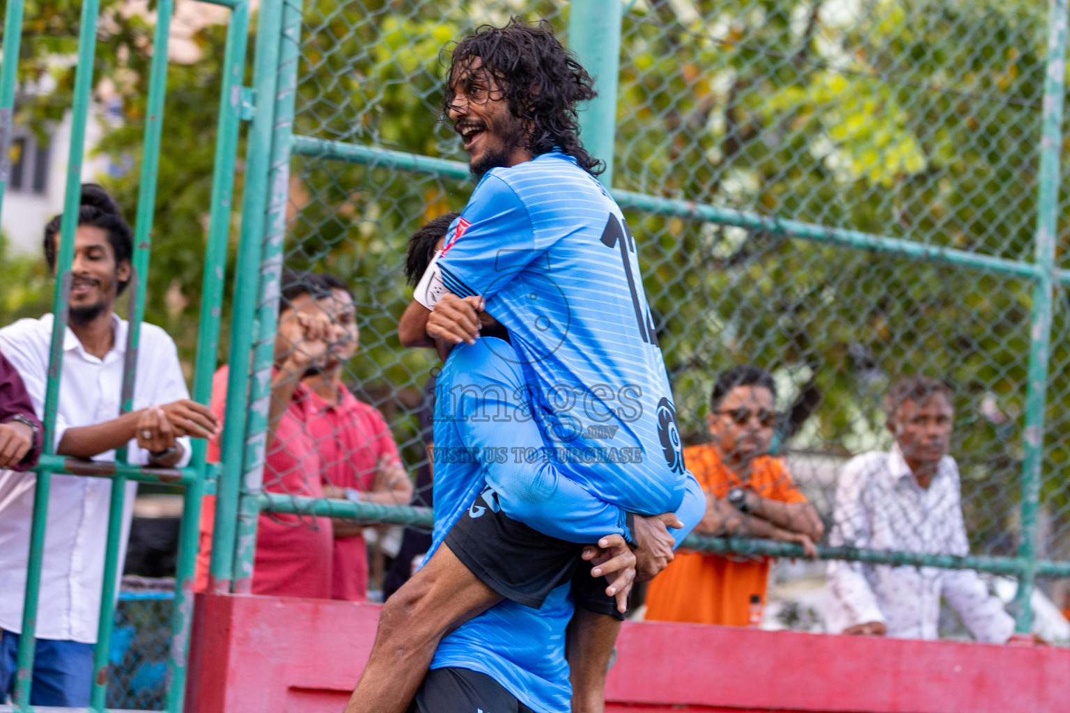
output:
M606 594L606 577L591 576L583 545L509 518L489 487L449 530L445 544L479 582L517 604L537 609L551 590L571 582L577 607L624 621L616 600Z

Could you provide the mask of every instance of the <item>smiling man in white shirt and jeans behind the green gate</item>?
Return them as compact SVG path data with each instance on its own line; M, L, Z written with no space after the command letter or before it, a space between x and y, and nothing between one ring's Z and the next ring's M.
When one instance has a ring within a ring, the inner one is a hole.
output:
M59 227L57 216L45 229L45 257L54 270ZM131 463L181 466L189 460L189 437L211 436L217 424L211 410L189 401L174 342L159 327L141 327L134 410L119 413L128 325L112 310L131 279L132 252L119 206L100 186L82 186L52 443L60 455L111 461L126 446ZM18 370L42 418L52 323L46 314L0 329L0 352ZM14 685L35 483L32 472L0 471L0 700ZM126 486L123 548L136 487ZM33 706L89 704L110 492L106 479L52 477Z

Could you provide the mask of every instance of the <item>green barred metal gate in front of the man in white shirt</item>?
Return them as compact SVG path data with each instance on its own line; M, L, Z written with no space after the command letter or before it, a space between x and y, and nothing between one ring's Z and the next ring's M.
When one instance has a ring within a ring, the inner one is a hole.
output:
M219 310L223 298L226 251L232 214L234 166L241 103L239 90L245 74L245 52L249 32L248 0L203 0L231 9L227 29L227 55L218 119L218 141L212 188L211 218L208 251L204 266L204 289L200 315L200 339L194 377L194 399L207 404L211 396L212 373L215 370L218 348ZM25 0L7 0L4 19L5 56L18 57ZM167 95L167 43L173 0L159 0L156 5L157 24L153 37L153 59L150 67L148 111L144 126L141 184L135 223L135 250L133 257L133 297L124 363L123 385L120 394L121 410L133 407L137 352L140 341L141 320L151 249L152 221L156 202L156 176L162 143L164 105ZM36 468L33 522L30 534L29 567L22 616L22 636L19 649L11 710L30 711L30 683L33 672L34 632L37 601L41 589L41 571L44 553L45 523L51 476L64 474L111 480L108 516L108 542L104 565L101 598L101 621L94 649L90 710L104 711L107 695L107 663L111 639L114 606L118 599L119 551L122 529L125 484L127 481L166 482L184 486L184 509L179 544L174 613L172 618L171 647L169 651L170 686L167 711L182 710L186 680L186 661L189 651L189 624L193 614L193 575L197 555L198 524L201 497L215 479L217 468L204 463L205 444L195 441L190 465L184 468L150 468L129 465L125 449L117 453L114 463L82 461L55 454L55 424L62 374L63 334L67 322L67 297L71 284L71 264L74 255L74 233L77 228L80 199L81 169L85 156L86 124L89 117L93 83L93 60L96 48L96 26L100 15L98 0L85 0L78 36L78 58L75 72L74 102L72 107L72 134L67 160L67 175L63 201L63 219L57 257L57 280L52 298L56 328L49 350L48 388L45 398L45 454ZM0 201L6 184L11 123L17 84L17 61L5 61L0 66ZM6 709L0 706L0 710Z

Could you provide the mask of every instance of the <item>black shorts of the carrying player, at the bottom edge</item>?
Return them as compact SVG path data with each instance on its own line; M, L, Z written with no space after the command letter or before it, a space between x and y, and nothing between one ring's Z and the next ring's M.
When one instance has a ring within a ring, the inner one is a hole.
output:
M409 713L535 713L486 673L467 668L427 672Z

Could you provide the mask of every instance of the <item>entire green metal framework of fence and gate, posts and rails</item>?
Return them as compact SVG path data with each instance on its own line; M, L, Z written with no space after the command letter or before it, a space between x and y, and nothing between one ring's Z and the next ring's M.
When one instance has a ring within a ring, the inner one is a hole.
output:
M213 486L217 492L217 505L210 588L215 592L248 591L253 576L256 526L260 512L346 517L424 527L431 525L431 513L427 509L301 498L262 491L268 406L271 399L272 344L277 321L278 280L286 232L289 165L291 156L300 155L386 167L453 180L465 180L469 175L468 166L441 158L294 135L294 96L300 59L302 0L266 0L261 3L257 22L251 89L243 87L250 24L249 0L202 1L228 7L232 12L227 30L223 92L219 100L218 139L194 375L194 399L200 403L208 403L211 397L212 375L219 345L219 311L223 304L227 247L234 207L234 169L243 119L251 120L251 125L247 140L245 189L241 210L243 220L236 258L229 363L245 365L250 354L253 361L248 370L232 369L228 377L229 398L225 414L221 466L210 466L205 463L204 441L195 441L190 464L184 468L147 468L129 465L124 453L119 454L116 463L93 463L55 454L55 421L59 377L62 373L62 336L66 325L75 216L85 155L85 127L92 88L100 5L100 0L85 0L74 88L70 168L54 295L57 329L54 331L50 347L49 385L45 401L46 450L37 467L22 622L24 636L20 638L18 651L14 708L17 711L30 710L33 632L44 551L45 513L52 474L107 478L112 482L101 625L94 656L97 671L91 701L91 710L94 711L105 710L107 651L117 595L119 532L124 505L124 485L127 481L169 482L184 486L184 511L169 661L171 683L166 704L166 710L173 713L178 713L183 707L193 613L193 571L197 553L201 497ZM9 57L17 57L24 2L25 0L6 0L4 37L5 49L9 50L5 53ZM622 11L622 3L617 0L574 0L570 6L572 48L596 78L599 91L598 97L581 113L582 136L592 154L606 161L607 170L601 181L610 187L622 207L696 221L738 226L793 239L882 252L915 261L942 263L961 269L1002 274L1034 283L1025 415L1025 459L1022 474L1022 544L1018 557L954 557L853 547L817 548L819 556L823 559L967 568L1015 576L1020 583L1017 595L1017 626L1020 633L1027 632L1029 627L1031 618L1029 598L1035 577L1070 577L1070 562L1036 559L1037 510L1043 455L1044 386L1049 368L1052 299L1056 286L1070 285L1070 270L1058 269L1054 261L1068 3L1070 0L1051 0L1050 5L1040 195L1033 262L1008 260L686 200L613 189L613 138L617 110L616 77L621 49L621 19L627 9ZM133 406L136 356L144 310L146 275L149 268L156 199L156 171L166 99L166 43L172 7L173 0L159 0L146 120L142 184L137 207L136 250L133 261L134 297L129 315L132 329L121 394L124 412ZM16 80L16 63L4 62L0 66L0 201L6 182ZM710 553L802 556L801 547L798 545L763 540L692 536L686 541L685 546ZM5 707L0 707L0 710L3 708Z

